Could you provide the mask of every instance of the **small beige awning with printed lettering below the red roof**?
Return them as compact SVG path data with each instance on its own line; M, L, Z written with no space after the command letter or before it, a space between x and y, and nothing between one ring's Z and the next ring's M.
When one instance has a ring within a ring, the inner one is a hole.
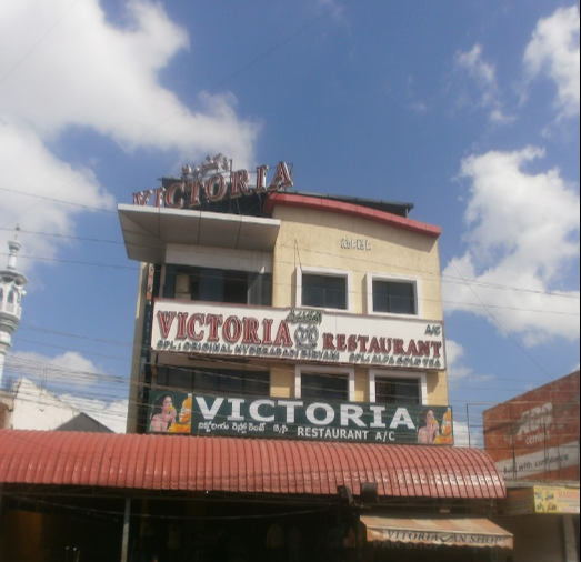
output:
M513 535L487 519L388 519L362 516L369 542L513 549Z

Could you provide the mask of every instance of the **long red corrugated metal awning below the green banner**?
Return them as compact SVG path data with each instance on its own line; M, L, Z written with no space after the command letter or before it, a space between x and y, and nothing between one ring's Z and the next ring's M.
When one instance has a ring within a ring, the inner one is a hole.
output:
M133 490L504 499L492 460L474 449L0 431L0 483Z

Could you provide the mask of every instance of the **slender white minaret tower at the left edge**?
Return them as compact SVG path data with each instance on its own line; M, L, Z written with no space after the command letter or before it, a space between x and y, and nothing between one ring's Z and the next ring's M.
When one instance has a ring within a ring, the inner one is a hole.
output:
M4 361L12 347L14 333L22 314L21 301L28 279L17 270L17 255L22 244L18 241L17 228L14 240L8 242L10 255L6 270L0 270L0 390L3 390Z

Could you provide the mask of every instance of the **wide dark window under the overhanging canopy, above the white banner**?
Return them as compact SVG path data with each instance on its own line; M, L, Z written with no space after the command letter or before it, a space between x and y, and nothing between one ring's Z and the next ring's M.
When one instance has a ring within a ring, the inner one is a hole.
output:
M272 305L272 274L168 265L164 297L229 304Z

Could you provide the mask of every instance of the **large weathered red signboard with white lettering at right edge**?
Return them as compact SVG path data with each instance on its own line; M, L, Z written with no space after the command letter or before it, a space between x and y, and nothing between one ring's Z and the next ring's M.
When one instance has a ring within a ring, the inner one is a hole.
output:
M579 480L579 371L484 412L504 480Z

